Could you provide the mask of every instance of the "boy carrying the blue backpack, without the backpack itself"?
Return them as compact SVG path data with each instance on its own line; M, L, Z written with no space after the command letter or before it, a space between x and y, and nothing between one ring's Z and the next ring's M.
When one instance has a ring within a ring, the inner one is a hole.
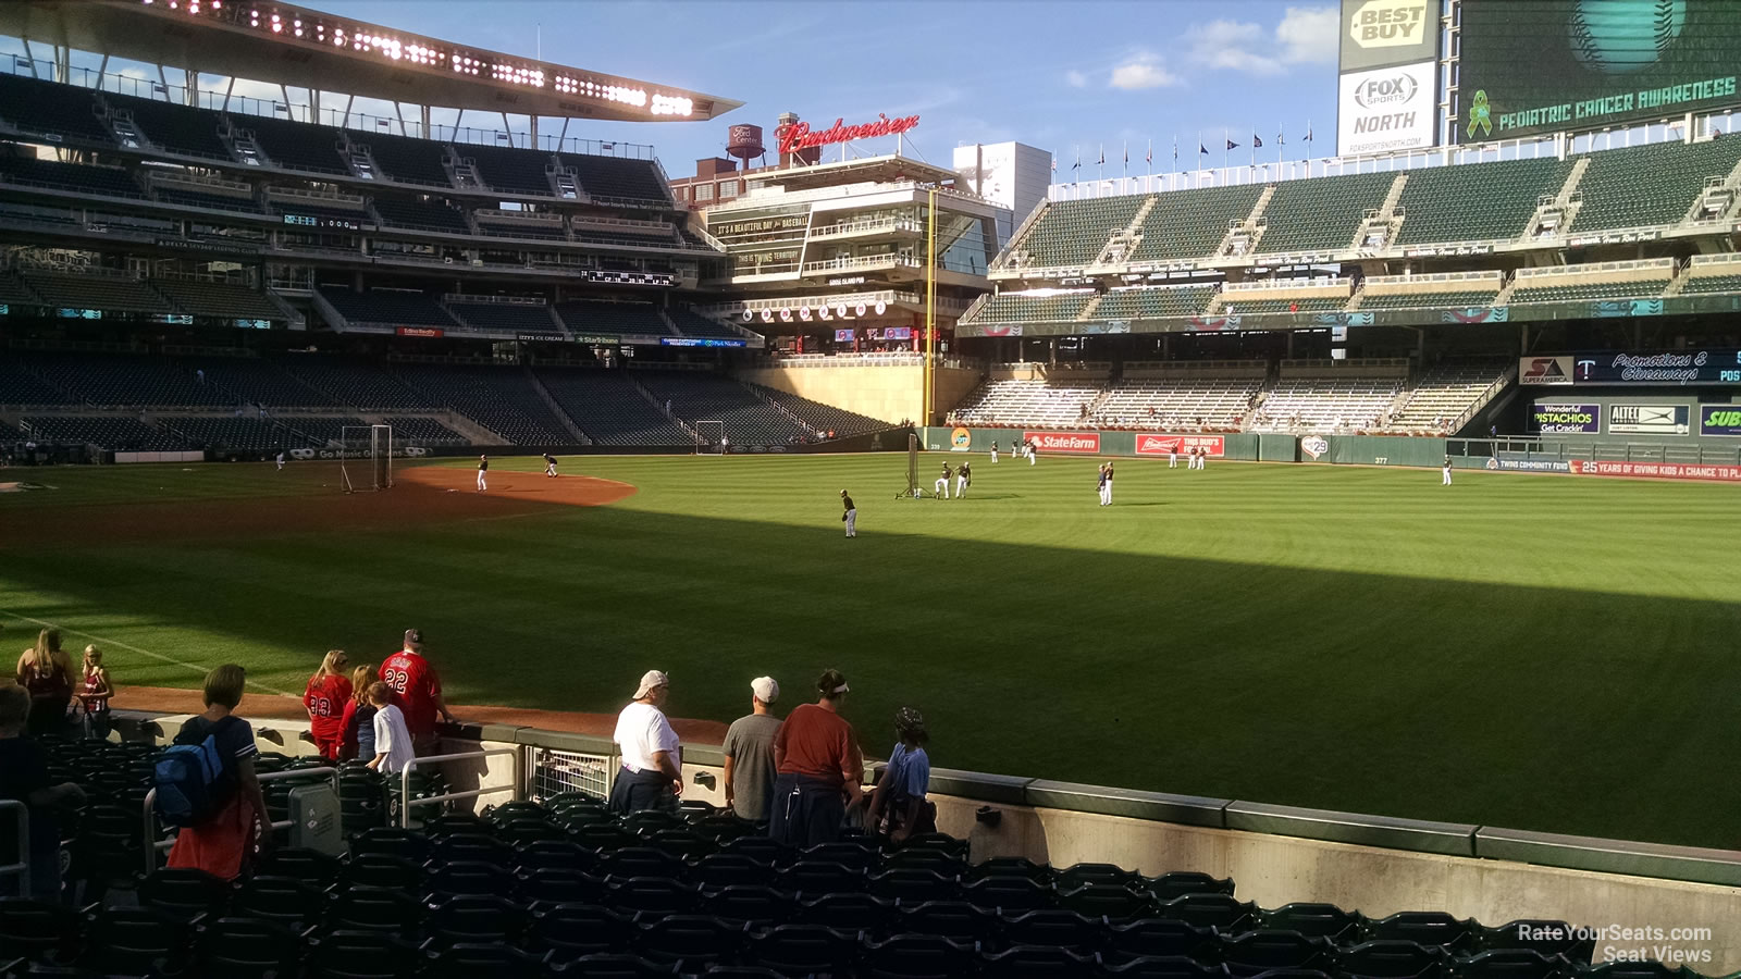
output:
M205 712L188 718L176 733L176 744L218 744L225 770L214 784L223 798L216 812L197 826L183 827L169 850L169 866L193 868L221 880L235 880L247 869L266 838L266 798L254 773L254 728L235 716L242 702L247 672L225 664L205 674Z

